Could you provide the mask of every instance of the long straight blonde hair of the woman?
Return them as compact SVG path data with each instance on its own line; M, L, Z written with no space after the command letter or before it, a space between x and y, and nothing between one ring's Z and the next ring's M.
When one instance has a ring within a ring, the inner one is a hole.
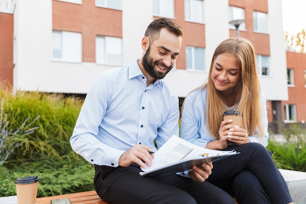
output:
M257 75L256 55L254 46L244 38L229 38L224 40L215 50L212 58L207 87L207 129L210 134L219 139L219 128L222 114L225 111L225 101L213 83L211 73L216 57L220 54L234 55L237 59L240 80L237 84L237 111L243 114L244 129L252 135L258 128L259 135L263 136L261 115L262 105L260 99L260 82Z

